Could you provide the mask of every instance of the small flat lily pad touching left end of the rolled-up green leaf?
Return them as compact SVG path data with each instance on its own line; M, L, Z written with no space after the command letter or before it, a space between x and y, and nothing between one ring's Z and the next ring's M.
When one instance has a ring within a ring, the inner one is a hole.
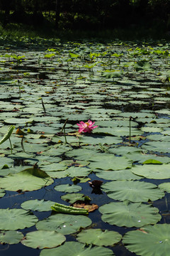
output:
M38 211L47 211L51 210L52 204L54 204L54 201L45 201L45 200L28 200L23 203L21 203L21 207L25 210L38 210Z

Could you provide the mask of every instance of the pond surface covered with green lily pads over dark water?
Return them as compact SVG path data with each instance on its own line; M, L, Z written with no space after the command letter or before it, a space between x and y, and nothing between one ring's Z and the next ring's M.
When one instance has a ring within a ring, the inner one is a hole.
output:
M0 53L1 255L169 256L169 43Z

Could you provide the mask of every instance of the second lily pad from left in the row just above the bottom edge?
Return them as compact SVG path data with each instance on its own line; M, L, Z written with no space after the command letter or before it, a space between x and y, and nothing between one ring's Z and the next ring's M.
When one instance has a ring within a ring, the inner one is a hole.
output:
M55 231L36 230L26 234L21 241L23 245L31 248L52 248L61 245L66 240L65 236Z

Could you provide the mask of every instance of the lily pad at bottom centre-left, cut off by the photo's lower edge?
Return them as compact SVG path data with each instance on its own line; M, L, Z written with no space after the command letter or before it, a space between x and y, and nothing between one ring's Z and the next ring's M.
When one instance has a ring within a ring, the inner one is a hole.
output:
M68 252L70 255L81 255L81 256L114 256L112 250L105 247L85 247L81 242L65 242L64 245L52 248L52 249L44 249L40 252L40 256L55 256L62 255L67 256Z

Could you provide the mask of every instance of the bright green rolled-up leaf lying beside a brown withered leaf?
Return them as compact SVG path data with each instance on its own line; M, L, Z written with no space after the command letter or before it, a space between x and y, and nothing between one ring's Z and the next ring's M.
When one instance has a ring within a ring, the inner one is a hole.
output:
M84 208L76 208L73 206L65 206L61 203L55 203L54 206L51 206L52 210L57 211L58 213L67 213L67 214L88 214L89 210Z

